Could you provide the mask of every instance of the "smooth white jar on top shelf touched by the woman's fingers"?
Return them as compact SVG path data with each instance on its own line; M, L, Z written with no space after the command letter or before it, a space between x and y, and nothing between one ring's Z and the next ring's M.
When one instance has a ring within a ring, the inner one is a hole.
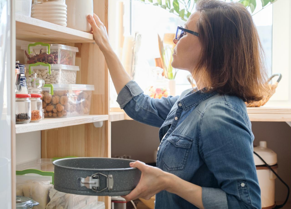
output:
M93 16L93 0L69 0L67 4L67 27L90 32L87 16Z

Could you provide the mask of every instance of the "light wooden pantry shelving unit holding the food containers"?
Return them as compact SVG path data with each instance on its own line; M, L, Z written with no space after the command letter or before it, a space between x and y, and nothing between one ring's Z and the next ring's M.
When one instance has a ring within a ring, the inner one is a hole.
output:
M108 28L108 0L93 0L94 13ZM12 11L14 12L14 11ZM17 124L12 133L41 130L41 158L54 156L111 157L111 123L109 122L109 73L102 52L93 35L15 14L17 40L45 43L62 43L76 46L77 84L94 85L90 115L71 118L50 118L39 123ZM14 73L13 73L14 74ZM103 123L98 123L103 121ZM95 124L95 126L94 126ZM102 124L102 126L96 126ZM97 128L96 128L97 127ZM15 144L15 135L12 144ZM12 149L15 159L17 153ZM15 190L15 182L12 189ZM15 193L15 191L14 191ZM106 209L111 208L111 198L99 196ZM15 198L12 199L12 204Z

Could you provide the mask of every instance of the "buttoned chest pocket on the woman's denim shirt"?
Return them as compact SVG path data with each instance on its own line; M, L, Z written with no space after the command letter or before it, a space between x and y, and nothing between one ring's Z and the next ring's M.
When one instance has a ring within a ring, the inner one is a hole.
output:
M168 171L184 170L193 140L180 134L166 139L162 163Z

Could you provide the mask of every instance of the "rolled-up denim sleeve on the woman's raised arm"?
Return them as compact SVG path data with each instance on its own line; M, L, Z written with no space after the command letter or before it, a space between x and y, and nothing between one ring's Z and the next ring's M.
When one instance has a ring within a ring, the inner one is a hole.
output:
M129 81L119 92L116 102L133 120L161 127L179 96L150 98L135 81Z

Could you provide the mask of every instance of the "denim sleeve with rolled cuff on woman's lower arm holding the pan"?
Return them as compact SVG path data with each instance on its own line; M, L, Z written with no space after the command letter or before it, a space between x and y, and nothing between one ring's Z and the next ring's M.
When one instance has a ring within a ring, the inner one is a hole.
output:
M200 121L199 152L219 188L202 188L205 209L260 209L253 134L242 114L226 104L208 108Z

